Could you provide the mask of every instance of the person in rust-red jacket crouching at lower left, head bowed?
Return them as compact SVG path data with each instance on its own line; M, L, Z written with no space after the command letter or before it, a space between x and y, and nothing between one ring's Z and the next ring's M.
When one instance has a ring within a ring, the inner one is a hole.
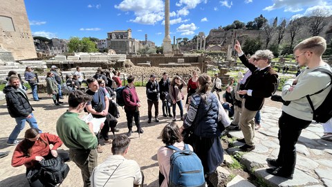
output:
M24 140L15 148L12 154L12 166L26 166L26 175L34 168L38 168L39 161L42 159L52 159L53 157L62 157L64 161L69 160L67 152L57 152L57 148L62 145L62 141L58 136L48 133L39 134L35 128L26 130ZM50 144L53 148L50 149ZM37 178L30 182L30 186L44 186L42 181Z

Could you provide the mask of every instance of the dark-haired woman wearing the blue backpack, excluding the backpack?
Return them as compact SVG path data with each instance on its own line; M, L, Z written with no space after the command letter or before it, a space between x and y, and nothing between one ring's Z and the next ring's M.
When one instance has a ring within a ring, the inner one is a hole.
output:
M182 136L180 129L176 122L168 123L164 128L163 131L160 133L160 136L163 140L165 145L174 145L176 148L183 150L185 147L185 143L182 141ZM190 150L192 146L189 145ZM157 152L158 164L159 164L159 186L166 187L168 184L169 179L169 170L171 169L170 166L170 158L175 152L165 146L160 147Z

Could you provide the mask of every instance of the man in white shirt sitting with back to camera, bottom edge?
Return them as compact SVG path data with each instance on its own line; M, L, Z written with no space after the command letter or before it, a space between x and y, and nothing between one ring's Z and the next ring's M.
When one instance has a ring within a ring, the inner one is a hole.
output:
M131 187L142 185L144 175L140 166L133 160L125 159L129 150L130 139L120 134L112 142L112 154L97 166L90 177L91 186Z

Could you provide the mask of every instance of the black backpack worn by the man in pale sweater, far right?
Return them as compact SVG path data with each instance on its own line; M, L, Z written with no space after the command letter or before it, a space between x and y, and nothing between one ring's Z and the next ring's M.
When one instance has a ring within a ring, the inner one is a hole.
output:
M320 91L317 91L315 94L320 94L322 91L327 89L328 87L331 87L332 84L332 72L327 69L315 69L314 71L320 71L322 73L326 73L330 76L331 81L327 87L324 87L324 89L321 89ZM313 120L317 123L326 123L329 121L329 119L332 117L332 89L329 91L329 94L327 94L326 98L324 99L323 103L315 109L313 107L313 102L311 101L310 96L313 96L315 94L307 95L306 98L308 99L308 102L311 106L311 109L313 110Z

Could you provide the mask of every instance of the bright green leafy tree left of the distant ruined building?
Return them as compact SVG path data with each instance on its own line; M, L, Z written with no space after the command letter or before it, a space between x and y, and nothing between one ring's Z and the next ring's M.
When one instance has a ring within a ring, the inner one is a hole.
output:
M92 42L89 37L83 37L82 40L79 37L71 37L68 42L69 53L84 52L93 53L98 52L96 44Z

